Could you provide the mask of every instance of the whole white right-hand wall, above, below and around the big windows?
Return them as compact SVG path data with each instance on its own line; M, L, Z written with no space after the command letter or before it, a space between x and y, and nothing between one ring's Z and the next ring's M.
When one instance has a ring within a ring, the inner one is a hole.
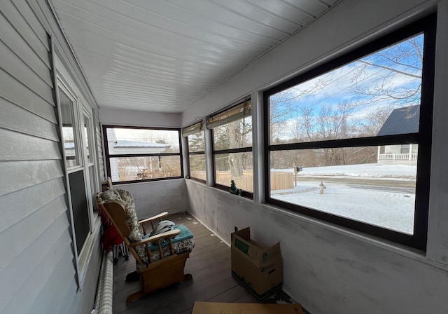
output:
M283 288L313 314L448 313L448 149L444 139L448 132L444 123L448 116L448 1L344 0L183 113L182 124L188 125L197 116L244 95L257 95L435 9L437 70L427 252L186 180L190 212L221 238L230 242L234 226L250 226L255 240L267 245L280 241ZM262 156L255 146L255 156Z

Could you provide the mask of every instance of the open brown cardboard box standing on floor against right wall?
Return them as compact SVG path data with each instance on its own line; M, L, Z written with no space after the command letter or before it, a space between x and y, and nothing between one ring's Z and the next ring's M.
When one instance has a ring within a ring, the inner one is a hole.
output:
M265 301L281 289L280 243L265 247L251 240L251 231L244 228L232 233L232 276L255 296Z

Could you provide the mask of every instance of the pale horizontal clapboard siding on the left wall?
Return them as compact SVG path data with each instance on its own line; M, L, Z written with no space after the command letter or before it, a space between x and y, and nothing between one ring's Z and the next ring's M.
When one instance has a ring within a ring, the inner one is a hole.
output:
M52 29L36 4L12 0L1 1L0 28L0 313L89 313L101 251L97 236L78 292Z

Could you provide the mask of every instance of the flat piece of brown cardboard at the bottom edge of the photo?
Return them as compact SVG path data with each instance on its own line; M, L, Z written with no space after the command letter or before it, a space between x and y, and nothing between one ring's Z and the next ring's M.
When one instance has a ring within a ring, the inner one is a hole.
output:
M298 303L214 303L195 302L191 314L303 314Z

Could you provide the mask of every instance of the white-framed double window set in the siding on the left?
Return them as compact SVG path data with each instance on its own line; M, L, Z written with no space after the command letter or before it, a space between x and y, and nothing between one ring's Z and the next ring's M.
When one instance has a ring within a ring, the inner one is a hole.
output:
M57 102L62 125L62 142L69 189L69 207L78 261L85 252L88 237L97 218L94 193L97 171L93 140L92 109L83 106L83 98L59 78ZM86 253L86 252L85 252ZM80 266L81 263L80 263ZM81 276L80 276L81 277Z

